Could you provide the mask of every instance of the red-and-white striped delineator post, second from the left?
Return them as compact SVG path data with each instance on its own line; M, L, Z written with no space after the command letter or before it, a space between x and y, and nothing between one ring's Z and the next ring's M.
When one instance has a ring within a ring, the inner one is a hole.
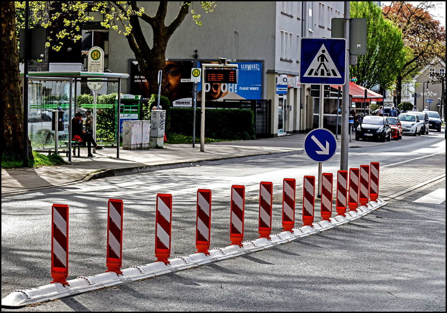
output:
M107 205L107 258L106 272L122 274L122 212L121 199L109 199Z

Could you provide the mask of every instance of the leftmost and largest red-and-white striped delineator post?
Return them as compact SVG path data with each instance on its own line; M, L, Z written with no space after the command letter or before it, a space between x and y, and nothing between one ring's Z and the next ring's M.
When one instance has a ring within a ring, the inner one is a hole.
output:
M68 285L68 206L51 207L51 283Z

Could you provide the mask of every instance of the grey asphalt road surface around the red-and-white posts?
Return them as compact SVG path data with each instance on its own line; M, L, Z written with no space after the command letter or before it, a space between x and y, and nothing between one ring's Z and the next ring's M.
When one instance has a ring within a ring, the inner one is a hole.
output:
M434 155L442 151L444 154ZM422 163L425 156L427 160L431 156L431 164L443 158L437 170L445 173L443 134L430 132L361 151L350 149L349 166L379 161L381 167L401 169L405 177L409 164L415 172L419 166L414 165ZM411 161L414 159L417 161ZM337 154L324 164L323 171L336 173L339 162ZM423 178L423 165L420 172ZM173 194L171 256L181 256L196 251L197 188L213 191L211 247L223 247L229 244L228 195L232 184L247 188L245 239L250 240L258 236L259 182L273 182L274 196L280 199L283 178L296 178L297 185L302 185L304 175L316 173L316 163L305 155L293 155L100 179L4 196L2 297L14 289L50 282L52 203L70 207L72 279L105 270L109 198L124 201L123 267L129 267L155 260L156 193ZM354 223L274 249L18 310L445 311L445 202L411 202L430 188L445 188L445 179L427 186ZM297 221L301 219L300 210L297 203ZM281 202L277 200L273 233L282 230L280 223Z

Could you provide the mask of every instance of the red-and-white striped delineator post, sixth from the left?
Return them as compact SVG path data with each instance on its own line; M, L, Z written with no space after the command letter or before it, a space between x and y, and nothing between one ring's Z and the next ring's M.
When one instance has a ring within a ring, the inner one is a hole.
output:
M273 183L259 184L259 238L270 240L272 233Z

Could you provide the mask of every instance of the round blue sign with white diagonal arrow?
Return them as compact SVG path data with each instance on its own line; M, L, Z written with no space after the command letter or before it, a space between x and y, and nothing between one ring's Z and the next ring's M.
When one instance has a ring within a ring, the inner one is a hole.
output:
M314 162L326 162L332 159L337 151L337 140L331 131L316 128L304 139L304 152Z

